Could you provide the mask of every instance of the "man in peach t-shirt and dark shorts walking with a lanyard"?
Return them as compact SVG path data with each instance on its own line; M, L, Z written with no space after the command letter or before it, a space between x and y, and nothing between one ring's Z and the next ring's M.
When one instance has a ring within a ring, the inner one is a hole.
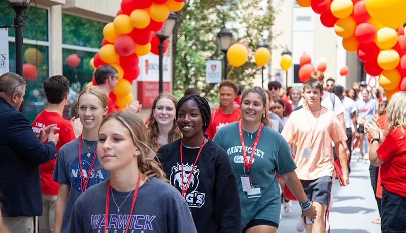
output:
M306 104L292 112L281 134L290 145L295 142L297 176L319 213L314 225L305 225L306 230L321 233L325 231L323 213L330 201L334 172L331 141L337 148L342 148L347 136L335 113L320 105L323 83L316 79L307 81L303 85L303 94ZM347 156L344 149L337 151L340 151L343 183L347 185Z

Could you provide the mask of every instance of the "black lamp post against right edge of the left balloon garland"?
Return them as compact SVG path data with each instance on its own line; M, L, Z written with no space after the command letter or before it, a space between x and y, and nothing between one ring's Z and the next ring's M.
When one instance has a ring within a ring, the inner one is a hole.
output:
M169 14L169 18L166 19L163 28L156 32L156 36L159 38L159 93L163 92L163 41L165 41L172 34L178 16L175 12Z

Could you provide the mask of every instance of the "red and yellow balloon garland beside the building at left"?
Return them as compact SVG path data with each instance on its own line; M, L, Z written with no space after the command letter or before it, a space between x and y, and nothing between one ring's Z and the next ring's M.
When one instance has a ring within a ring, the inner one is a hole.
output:
M113 22L103 29L100 52L93 58L94 67L110 64L118 70L119 82L110 98L125 109L134 97L131 85L140 74L138 58L149 52L158 54L159 39L154 32L163 28L170 11L180 11L185 0L122 0ZM168 42L164 42L167 48ZM165 49L164 49L165 50ZM92 62L91 62L92 63ZM94 79L93 79L94 80ZM88 85L92 86L95 82Z

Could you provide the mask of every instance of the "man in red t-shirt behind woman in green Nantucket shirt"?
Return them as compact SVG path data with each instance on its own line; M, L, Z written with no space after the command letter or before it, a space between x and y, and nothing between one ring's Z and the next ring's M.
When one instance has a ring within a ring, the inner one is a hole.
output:
M219 87L220 107L211 114L210 124L206 130L210 140L213 140L214 135L221 127L239 120L241 110L234 106L234 99L237 97L238 90L238 85L234 81L221 81Z

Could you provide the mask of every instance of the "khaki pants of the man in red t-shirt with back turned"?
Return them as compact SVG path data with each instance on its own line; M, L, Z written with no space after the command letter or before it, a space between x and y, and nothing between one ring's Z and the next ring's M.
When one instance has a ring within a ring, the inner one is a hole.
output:
M38 218L40 230L54 231L55 203L58 195L42 195L42 216Z

